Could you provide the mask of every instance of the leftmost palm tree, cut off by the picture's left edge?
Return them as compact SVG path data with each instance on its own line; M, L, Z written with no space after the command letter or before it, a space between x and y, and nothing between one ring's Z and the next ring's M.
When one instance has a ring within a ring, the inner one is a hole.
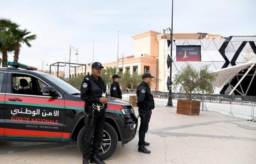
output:
M0 19L0 52L2 53L2 67L6 67L5 62L8 59L8 51L14 50L14 42L10 40L11 31L10 28L17 28L18 24L12 22L10 19ZM8 37L6 41L3 41L5 37Z

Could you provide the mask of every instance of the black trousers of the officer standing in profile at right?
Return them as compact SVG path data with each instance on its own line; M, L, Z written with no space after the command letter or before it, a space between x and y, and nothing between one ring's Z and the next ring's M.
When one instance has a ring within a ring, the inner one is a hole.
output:
M151 118L152 110L146 110L145 116L148 117L148 123L145 123L142 121L143 115L142 112L143 110L139 108L139 115L140 115L140 129L139 129L139 145L143 145L145 142L145 135L148 130L148 123Z

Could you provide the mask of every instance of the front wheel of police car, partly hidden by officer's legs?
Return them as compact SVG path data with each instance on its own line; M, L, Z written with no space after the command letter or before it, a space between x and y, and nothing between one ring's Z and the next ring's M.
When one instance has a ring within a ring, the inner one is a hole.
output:
M84 134L85 134L85 127L83 126L83 128L81 128L81 130L78 134L78 138L77 138L78 149L82 154L84 152L84 149L83 149ZM118 141L118 137L117 137L116 130L108 122L105 122L103 140L102 140L102 145L100 147L100 153L99 153L99 157L102 160L105 160L105 159L109 158L110 156L112 156L112 154L116 150L117 141ZM102 151L102 148L105 151Z

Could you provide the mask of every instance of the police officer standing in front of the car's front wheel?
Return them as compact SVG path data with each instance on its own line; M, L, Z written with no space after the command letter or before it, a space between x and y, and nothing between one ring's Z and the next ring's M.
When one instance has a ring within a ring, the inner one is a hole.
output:
M84 78L81 86L81 99L85 101L83 164L89 164L89 159L90 163L105 164L98 157L108 103L106 85L100 77L103 68L101 63L94 62L91 66L92 74Z

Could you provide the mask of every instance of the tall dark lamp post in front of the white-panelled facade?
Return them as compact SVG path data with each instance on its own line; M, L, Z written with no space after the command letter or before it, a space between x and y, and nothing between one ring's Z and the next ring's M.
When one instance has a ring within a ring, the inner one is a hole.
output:
M167 102L167 106L172 107L173 102L172 102L172 53L173 53L173 0L172 0L172 28L166 28L165 30L163 29L163 35L161 36L162 39L167 39L165 35L165 31L170 31L170 42L171 42L171 53L170 53L170 84L169 84L169 98Z

